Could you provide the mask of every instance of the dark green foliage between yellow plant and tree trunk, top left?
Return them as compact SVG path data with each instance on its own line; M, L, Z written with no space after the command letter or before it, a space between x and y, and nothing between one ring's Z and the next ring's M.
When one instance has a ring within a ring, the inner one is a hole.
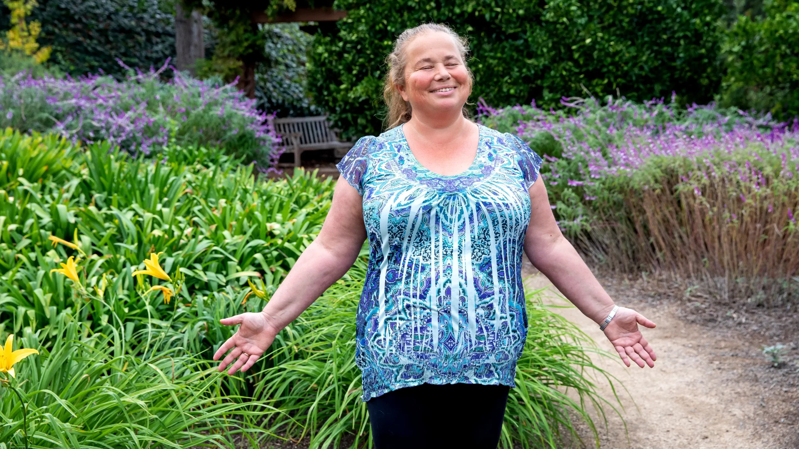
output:
M50 66L121 79L117 59L146 70L174 56L173 14L168 0L41 0L31 18L42 23L38 42L52 47ZM0 27L7 24L0 17Z

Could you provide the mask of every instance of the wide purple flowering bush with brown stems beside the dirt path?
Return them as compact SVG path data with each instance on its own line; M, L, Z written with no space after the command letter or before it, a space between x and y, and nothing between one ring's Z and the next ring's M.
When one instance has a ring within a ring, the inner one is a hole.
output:
M479 107L547 162L555 217L586 256L677 272L725 299L799 299L799 121L664 101Z

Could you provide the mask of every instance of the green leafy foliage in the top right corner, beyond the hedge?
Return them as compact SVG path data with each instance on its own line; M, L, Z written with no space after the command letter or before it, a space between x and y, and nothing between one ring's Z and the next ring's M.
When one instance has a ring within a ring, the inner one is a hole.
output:
M726 34L721 104L799 115L799 2L765 2L765 16L740 16Z

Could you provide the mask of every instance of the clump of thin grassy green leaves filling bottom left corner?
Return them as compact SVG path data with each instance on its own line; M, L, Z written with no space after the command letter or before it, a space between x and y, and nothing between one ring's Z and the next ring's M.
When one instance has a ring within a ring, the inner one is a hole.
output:
M26 328L22 337L40 352L17 367L31 447L233 447L245 429L263 432L248 422L273 409L219 395L225 379L205 360L165 348L163 339L125 337L118 318L112 334L92 332L71 312L50 320L52 346L42 347L41 331ZM18 397L2 388L0 448L25 447L22 412Z

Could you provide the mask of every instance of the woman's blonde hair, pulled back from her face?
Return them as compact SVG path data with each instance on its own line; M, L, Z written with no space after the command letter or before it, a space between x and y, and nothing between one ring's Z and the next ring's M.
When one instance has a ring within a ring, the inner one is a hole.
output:
M398 85L405 85L405 66L407 65L405 49L407 45L420 34L436 31L449 35L455 41L455 47L459 50L460 58L463 59L463 65L466 66L469 74L469 93L471 93L471 86L475 83L475 77L471 74L469 66L466 65L466 56L469 52L467 39L461 38L449 26L439 23L423 23L414 28L408 28L396 38L392 53L386 57L388 71L383 80L383 98L386 101L386 106L388 106L388 115L385 122L386 129L392 129L411 120L411 103L403 100L400 90L397 89ZM463 106L463 117L469 117L466 106Z

